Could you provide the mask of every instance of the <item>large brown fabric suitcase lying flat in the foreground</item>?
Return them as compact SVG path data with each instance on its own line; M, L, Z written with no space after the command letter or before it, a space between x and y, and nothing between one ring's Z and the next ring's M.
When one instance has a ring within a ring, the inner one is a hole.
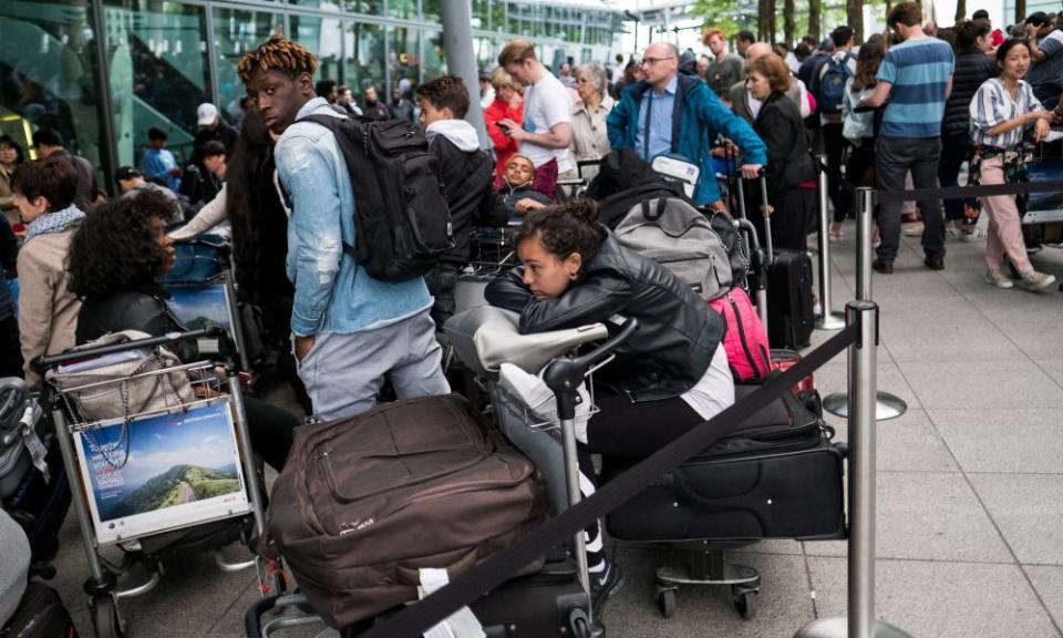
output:
M268 534L314 610L344 627L416 600L419 569L460 576L547 512L537 470L450 394L297 432Z

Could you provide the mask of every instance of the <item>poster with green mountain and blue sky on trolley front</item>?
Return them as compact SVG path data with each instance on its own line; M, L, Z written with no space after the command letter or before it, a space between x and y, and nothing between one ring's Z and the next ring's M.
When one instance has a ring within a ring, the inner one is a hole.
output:
M248 511L226 401L78 435L101 543Z

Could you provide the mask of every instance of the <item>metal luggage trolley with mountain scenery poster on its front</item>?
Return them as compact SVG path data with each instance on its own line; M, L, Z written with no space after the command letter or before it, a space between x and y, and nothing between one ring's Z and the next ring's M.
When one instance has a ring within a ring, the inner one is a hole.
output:
M174 363L164 348L188 341L217 342L220 363ZM118 604L159 583L163 558L237 539L254 552L265 513L231 352L225 332L213 327L32 362L48 381L42 405L59 440L89 557L84 590L97 638L125 635ZM136 371L109 374L107 367L128 361L138 363ZM208 439L210 445L203 445ZM180 450L186 457L175 459ZM153 454L163 451L165 456ZM125 552L120 565L101 556L106 546ZM230 564L217 554L216 560L227 572L258 567L264 594L282 586L258 556ZM149 579L120 589L118 574L136 562L146 564Z

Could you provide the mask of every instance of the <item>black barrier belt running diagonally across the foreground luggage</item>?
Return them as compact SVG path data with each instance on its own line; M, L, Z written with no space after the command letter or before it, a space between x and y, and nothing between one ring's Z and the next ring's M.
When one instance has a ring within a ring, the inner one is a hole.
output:
M859 321L850 323L829 341L782 374L771 378L744 400L705 421L651 456L609 481L589 498L536 527L524 538L494 554L482 564L423 600L406 607L360 638L415 637L424 634L457 609L482 597L522 567L541 557L550 547L569 541L601 516L612 512L644 490L661 474L704 450L776 397L788 392L801 379L859 340Z

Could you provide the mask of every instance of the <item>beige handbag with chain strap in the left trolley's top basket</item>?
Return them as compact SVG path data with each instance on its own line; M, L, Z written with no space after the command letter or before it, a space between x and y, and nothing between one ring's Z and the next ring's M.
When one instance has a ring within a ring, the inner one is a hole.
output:
M148 338L151 335L145 332L123 330L104 335L71 351ZM195 400L185 371L161 372L180 364L180 359L171 350L156 346L61 366L49 371L47 380L63 393L75 420L85 423L106 419L128 421L136 414L163 412ZM147 374L149 372L158 373ZM76 390L84 385L91 387Z

